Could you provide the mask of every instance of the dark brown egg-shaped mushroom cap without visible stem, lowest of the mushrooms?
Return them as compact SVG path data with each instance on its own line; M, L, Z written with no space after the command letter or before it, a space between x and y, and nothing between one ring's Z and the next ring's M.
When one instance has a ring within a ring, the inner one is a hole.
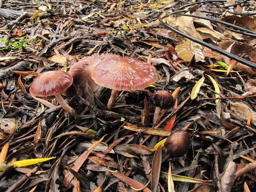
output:
M189 134L185 130L172 132L166 139L164 146L171 157L180 157L185 154L189 146Z

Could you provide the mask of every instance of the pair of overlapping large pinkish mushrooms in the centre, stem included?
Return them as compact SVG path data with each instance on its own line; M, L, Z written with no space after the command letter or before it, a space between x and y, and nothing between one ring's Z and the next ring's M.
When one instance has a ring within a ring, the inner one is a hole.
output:
M115 54L93 54L84 57L73 66L69 73L74 83L87 94L87 85L95 91L98 86L111 89L107 107L111 109L119 91L145 89L156 81L155 68L148 63Z

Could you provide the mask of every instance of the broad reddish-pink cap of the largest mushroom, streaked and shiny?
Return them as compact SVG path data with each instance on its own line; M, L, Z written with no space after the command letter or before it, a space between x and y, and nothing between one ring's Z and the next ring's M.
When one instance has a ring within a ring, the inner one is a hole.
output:
M156 81L155 67L131 57L101 54L101 62L94 68L95 83L113 90L142 90Z

